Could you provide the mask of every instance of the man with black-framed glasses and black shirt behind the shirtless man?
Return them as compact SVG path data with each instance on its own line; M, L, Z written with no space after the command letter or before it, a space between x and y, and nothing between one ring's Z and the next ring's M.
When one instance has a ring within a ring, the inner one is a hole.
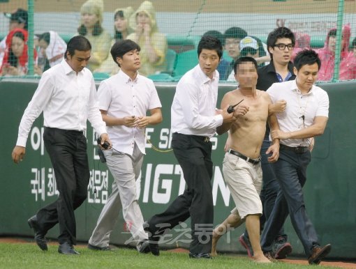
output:
M269 33L267 37L267 48L271 61L268 66L258 68L258 80L256 89L267 91L267 89L276 82L286 82L295 79L293 73L293 64L290 61L292 51L295 46L295 36L286 27L279 27ZM280 113L285 109L285 100L278 100L270 107L270 112ZM262 191L260 194L263 215L260 220L261 230L272 213L274 201L279 192L279 183L276 179L271 164L269 164L266 151L271 145L269 141L269 125L266 126L265 139L263 140L260 155L262 165ZM274 238L274 245L270 253L274 259L285 259L292 252L292 246L287 242L288 236L284 233L283 226ZM239 237L239 242L246 248L247 254L253 256L253 250L249 240L248 233L245 231Z

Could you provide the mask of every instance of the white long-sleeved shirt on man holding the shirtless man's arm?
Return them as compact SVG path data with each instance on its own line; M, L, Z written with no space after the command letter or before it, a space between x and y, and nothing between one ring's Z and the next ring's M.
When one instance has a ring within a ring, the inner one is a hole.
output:
M215 115L218 98L218 71L212 79L200 66L186 72L177 84L171 107L172 132L212 137L223 116Z

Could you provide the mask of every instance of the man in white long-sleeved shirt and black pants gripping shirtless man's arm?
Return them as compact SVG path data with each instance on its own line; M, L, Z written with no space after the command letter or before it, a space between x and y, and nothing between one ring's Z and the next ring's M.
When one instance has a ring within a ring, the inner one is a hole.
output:
M212 142L216 128L234 121L234 113L216 111L218 72L223 54L218 39L203 36L198 45L199 64L177 84L171 108L172 148L186 180L187 189L165 212L144 223L149 247L159 255L158 240L167 230L191 217L191 258L210 259L214 206L212 199Z

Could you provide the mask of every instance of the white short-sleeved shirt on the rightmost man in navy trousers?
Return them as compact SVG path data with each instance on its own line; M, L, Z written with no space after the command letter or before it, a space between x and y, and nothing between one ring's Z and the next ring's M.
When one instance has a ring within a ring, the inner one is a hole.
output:
M279 128L283 132L294 132L314 123L316 116L329 116L329 97L327 92L313 85L308 93L302 94L295 80L272 84L267 90L272 103L285 100L285 112L277 113ZM304 119L303 117L304 116ZM309 146L309 139L283 139L286 146Z

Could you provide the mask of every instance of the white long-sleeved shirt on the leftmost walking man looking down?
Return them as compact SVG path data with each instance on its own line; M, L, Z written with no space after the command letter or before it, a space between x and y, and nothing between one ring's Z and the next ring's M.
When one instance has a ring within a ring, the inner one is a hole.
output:
M43 73L22 116L17 146L26 146L31 126L41 112L46 127L84 131L89 120L98 134L106 133L93 75L87 68L77 74L66 60Z

